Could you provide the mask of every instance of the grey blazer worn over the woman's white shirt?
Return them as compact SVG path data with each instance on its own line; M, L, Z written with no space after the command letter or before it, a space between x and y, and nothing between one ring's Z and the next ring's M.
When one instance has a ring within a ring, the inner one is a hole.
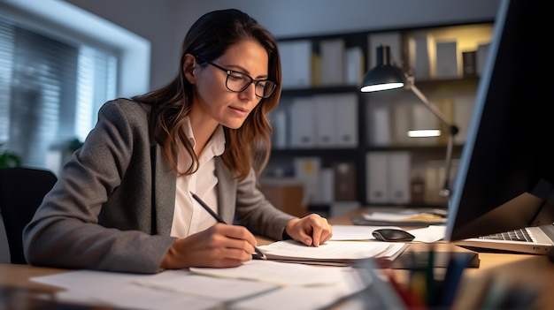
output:
M150 106L106 102L84 145L23 232L27 261L58 268L155 273L169 236L176 173L150 134ZM254 171L238 182L216 158L219 215L281 239L294 218L265 200Z

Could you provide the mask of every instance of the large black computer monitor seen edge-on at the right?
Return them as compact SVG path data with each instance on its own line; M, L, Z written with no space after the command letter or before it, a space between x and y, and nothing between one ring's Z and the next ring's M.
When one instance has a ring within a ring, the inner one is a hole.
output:
M500 3L449 199L455 241L554 222L550 11Z

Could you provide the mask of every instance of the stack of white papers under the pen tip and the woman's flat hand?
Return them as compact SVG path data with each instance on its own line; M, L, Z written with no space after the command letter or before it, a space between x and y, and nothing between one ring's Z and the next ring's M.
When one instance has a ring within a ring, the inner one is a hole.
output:
M352 263L366 258L396 258L407 245L400 242L327 241L318 247L294 240L258 246L267 259L319 263Z

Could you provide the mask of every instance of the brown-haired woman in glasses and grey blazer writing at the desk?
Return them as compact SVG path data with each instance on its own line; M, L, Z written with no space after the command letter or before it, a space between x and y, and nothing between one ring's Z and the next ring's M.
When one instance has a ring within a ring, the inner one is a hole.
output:
M285 214L257 188L280 84L269 32L242 11L205 14L171 83L104 104L24 231L27 261L155 273L239 266L252 259L252 233L326 242L326 219ZM217 223L191 193L236 225Z

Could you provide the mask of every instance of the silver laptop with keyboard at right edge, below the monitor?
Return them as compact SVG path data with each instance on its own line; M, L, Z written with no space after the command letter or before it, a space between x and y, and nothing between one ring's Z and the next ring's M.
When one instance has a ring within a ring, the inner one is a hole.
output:
M508 252L543 254L553 259L554 224L462 239L454 241L454 244Z

